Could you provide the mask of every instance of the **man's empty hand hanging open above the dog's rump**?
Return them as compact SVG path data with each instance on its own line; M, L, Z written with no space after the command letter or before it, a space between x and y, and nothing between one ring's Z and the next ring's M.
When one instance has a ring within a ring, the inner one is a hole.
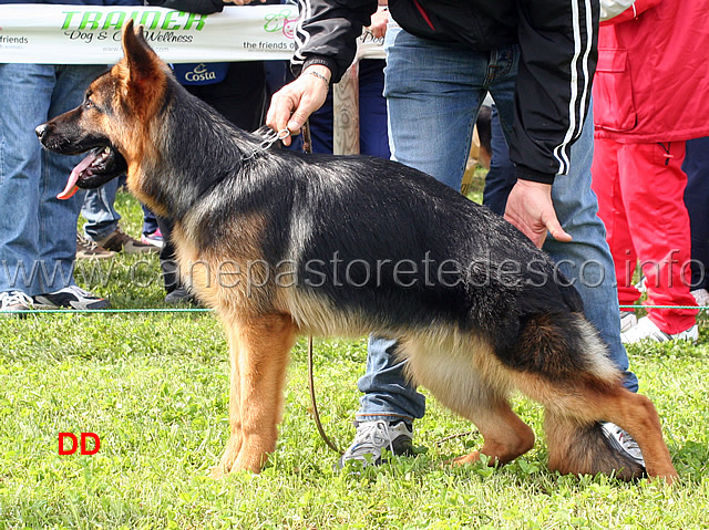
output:
M510 191L505 219L540 248L544 245L547 231L557 241L572 240L556 218L549 184L518 179Z

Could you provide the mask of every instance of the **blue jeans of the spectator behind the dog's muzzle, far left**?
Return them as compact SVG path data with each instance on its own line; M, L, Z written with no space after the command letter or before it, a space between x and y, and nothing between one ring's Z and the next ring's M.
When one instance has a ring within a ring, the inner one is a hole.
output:
M74 283L83 194L56 199L79 156L42 149L34 127L78 106L105 66L0 64L0 292Z

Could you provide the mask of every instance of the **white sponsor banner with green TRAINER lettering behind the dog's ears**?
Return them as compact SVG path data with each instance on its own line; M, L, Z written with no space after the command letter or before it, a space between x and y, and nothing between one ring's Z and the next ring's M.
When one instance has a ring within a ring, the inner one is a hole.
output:
M0 63L112 64L121 28L133 19L172 63L288 60L295 6L233 6L214 14L152 7L0 4ZM360 56L383 59L381 39L360 38Z

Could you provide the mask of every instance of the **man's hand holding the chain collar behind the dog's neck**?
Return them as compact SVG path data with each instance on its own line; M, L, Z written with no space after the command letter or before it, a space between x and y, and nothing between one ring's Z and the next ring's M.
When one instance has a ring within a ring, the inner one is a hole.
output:
M266 125L277 133L287 128L291 134L298 134L308 116L325 103L330 77L327 66L308 66L298 79L274 94L266 114ZM290 145L290 137L284 138L282 143Z

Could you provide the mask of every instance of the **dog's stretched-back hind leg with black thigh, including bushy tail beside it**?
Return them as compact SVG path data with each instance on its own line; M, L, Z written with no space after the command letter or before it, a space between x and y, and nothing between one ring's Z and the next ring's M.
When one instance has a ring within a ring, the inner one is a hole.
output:
M613 422L635 438L650 477L677 476L655 406L623 386L605 344L580 314L530 318L514 347L501 353L514 386L546 408L551 468L643 476L643 467L619 455L599 428Z

